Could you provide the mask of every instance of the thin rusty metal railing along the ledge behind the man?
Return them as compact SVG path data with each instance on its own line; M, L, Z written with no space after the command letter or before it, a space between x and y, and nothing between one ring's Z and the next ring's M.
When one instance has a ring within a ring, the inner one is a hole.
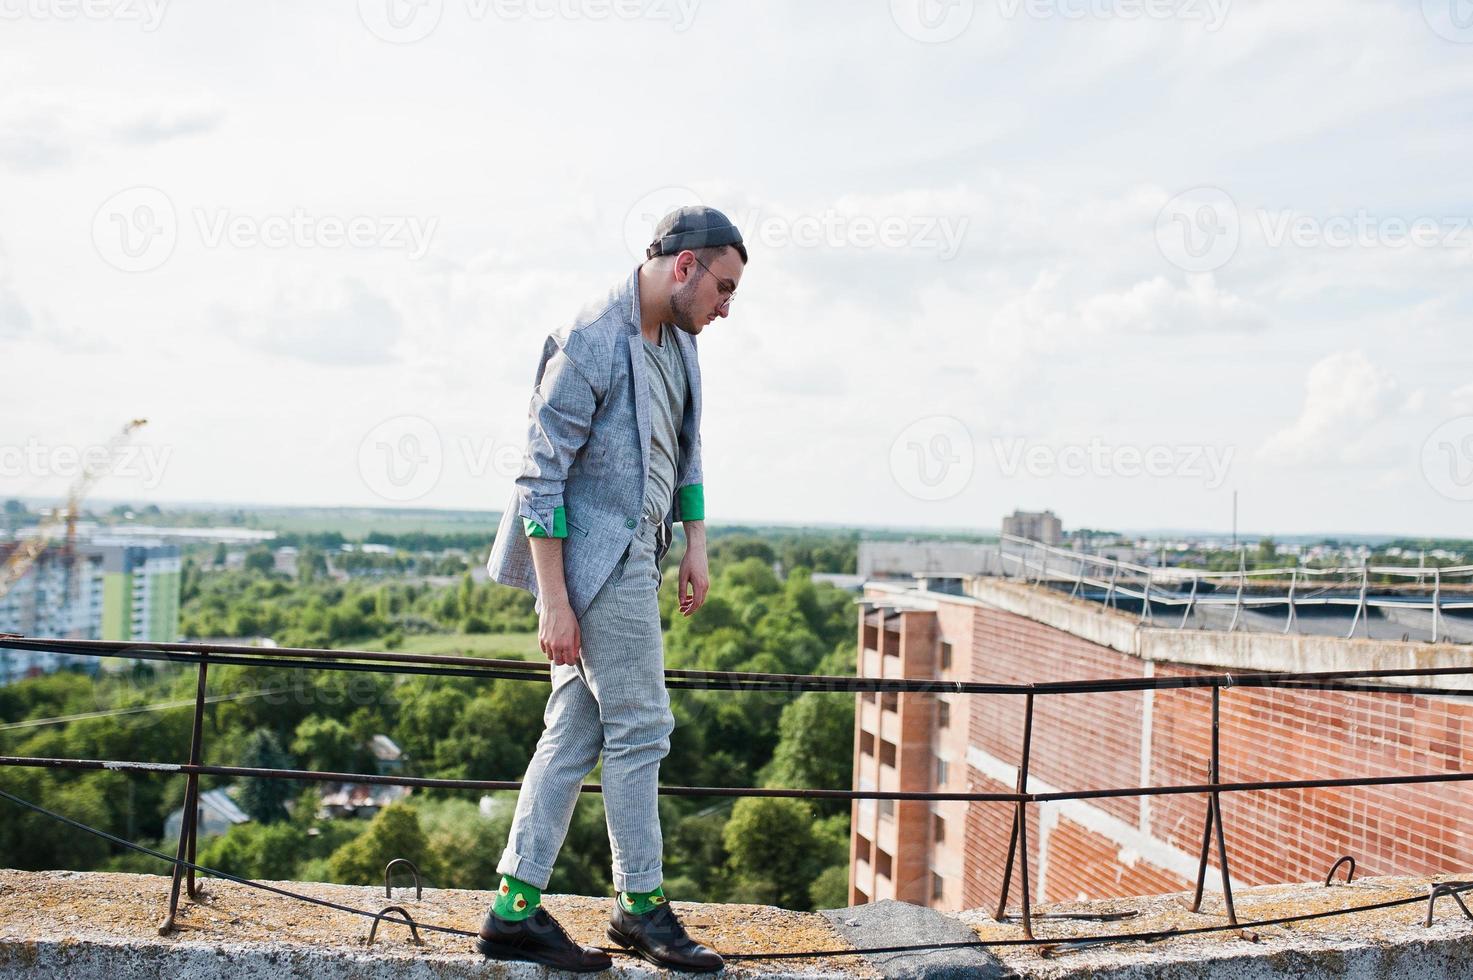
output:
M458 657L458 656L432 656L432 654L408 654L408 653L393 653L393 651L354 651L354 650L315 650L315 648L259 648L259 647L240 647L228 644L187 644L187 643L171 643L171 644L150 644L150 643L121 643L121 641L80 641L80 640L57 640L57 638L41 638L41 637L0 637L0 650L15 648L15 650L43 650L43 651L63 651L63 653L82 653L105 659L141 659L141 660L164 660L175 662L183 665L194 665L197 671L196 676L196 697L193 710L193 724L190 732L190 744L187 762L183 763L161 763L161 762L130 762L130 760L103 760L103 759L49 759L49 757L29 757L29 756L0 756L0 768L6 766L22 766L22 768L43 768L43 769L108 769L116 772L137 772L137 774L168 774L168 775L183 775L186 778L186 805L184 813L180 825L180 837L177 841L175 855L169 859L161 852L155 852L130 841L122 841L121 839L106 834L105 831L97 831L96 828L87 828L78 821L66 822L88 830L90 833L97 833L115 843L143 850L161 859L169 861L172 864L172 878L169 890L169 906L168 914L159 925L161 933L166 933L174 928L175 917L178 914L178 903L181 892L190 899L197 899L200 895L199 886L196 883L194 872L200 868L196 864L196 843L197 843L197 806L199 806L199 780L202 775L217 775L217 777L236 777L236 778L274 778L274 780L293 780L293 781L355 781L367 784L386 784L386 785L405 785L405 787L435 787L435 788L464 788L464 790L516 790L520 788L520 781L511 780L442 780L430 777L408 777L408 775L379 775L379 774L355 774L355 772L323 772L309 769L265 769L265 768L249 768L249 766L217 766L205 765L203 759L203 715L209 703L206 697L206 681L208 671L212 665L247 665L247 666L270 666L270 668L293 668L293 669L326 669L326 671L371 671L384 673L414 673L414 675L433 675L433 676L471 676L471 678L488 678L488 679L517 679L517 681L542 681L549 679L549 668L545 663L529 663L521 660L489 660L480 657ZM1031 909L1031 892L1030 892L1030 875L1028 875L1028 831L1027 831L1027 812L1028 806L1040 803L1056 803L1066 800L1097 800L1111 797L1153 797L1153 796L1203 796L1206 797L1205 805L1205 828L1202 834L1202 846L1199 852L1199 867L1196 880L1196 893L1192 903L1192 911L1200 911L1203 886L1206 881L1206 871L1209 865L1211 850L1215 846L1218 852L1218 871L1221 875L1223 897L1226 906L1227 924L1223 927L1206 927L1202 930L1181 930L1178 934L1189 934L1196 931L1217 931L1218 928L1245 930L1248 927L1256 927L1264 924L1277 924L1279 921L1302 921L1305 918L1320 918L1321 914L1309 914L1304 917L1286 917L1283 920L1276 920L1274 923L1240 923L1237 918L1236 908L1233 905L1233 881L1228 869L1227 861L1227 828L1223 816L1221 797L1226 793L1256 793L1256 791L1274 791L1274 790L1312 790L1312 788L1332 788L1332 787L1373 787L1373 785L1413 785L1413 784L1438 784L1438 783L1467 783L1473 781L1473 772L1461 771L1444 771L1444 772L1407 772L1398 775L1382 775L1382 777L1343 777L1343 778L1317 778L1317 780L1262 780L1262 781L1237 781L1227 783L1223 781L1221 775L1221 735L1220 735L1220 710L1221 697L1224 690L1233 687L1248 687L1248 688L1280 688L1292 691L1317 690L1317 691L1354 691L1354 693L1385 693L1385 694L1410 694L1410 696L1444 696L1444 697L1470 697L1473 690L1467 687L1435 687L1426 685L1424 682L1430 678L1469 678L1473 675L1473 665L1455 666L1455 668L1404 668L1404 669L1382 669L1382 671L1320 671L1320 672L1276 672L1276 673L1202 673L1202 675L1186 675L1186 676L1149 676L1149 678L1111 678L1111 679L1089 679L1089 681L1056 681L1044 684L994 684L994 682L969 682L969 681L938 681L938 679L884 679L884 678L862 678L862 676L837 676L837 675L791 675L791 673L756 673L756 672L723 672L723 671L681 671L670 669L666 671L666 684L676 690L732 690L732 691L769 691L769 693L798 693L798 691L828 691L828 693L896 693L896 694L980 694L980 696L1013 696L1024 699L1024 728L1019 741L1019 766L1016 772L1016 785L1010 793L921 793L921 791L884 791L884 790L825 790L825 788L778 788L778 787L688 787L688 785L663 785L660 787L661 794L667 796L706 796L706 797L741 797L741 796L766 796L766 797L797 797L797 799L843 799L843 800L956 800L968 803L999 803L1010 805L1013 808L1012 831L1008 844L1008 855L1003 871L1002 881L1002 897L997 903L996 918L999 921L1010 921L1013 917L1008 912L1008 893L1010 890L1010 883L1013 872L1018 871L1021 884L1021 920L1025 940L1013 942L994 942L978 945L1021 945L1038 943L1058 945L1059 940L1038 940L1034 936L1033 921L1034 912ZM1396 681L1417 679L1421 684L1416 687L1408 687L1404 684L1396 684ZM1030 768L1031 768L1031 746L1033 746L1033 724L1034 724L1034 709L1036 701L1040 697L1062 696L1062 694L1106 694L1106 693L1122 693L1122 691L1162 691L1162 690L1208 690L1211 693L1211 746L1209 746L1209 760L1208 760L1208 780L1200 784L1173 784L1173 785L1136 785L1136 787L1108 787L1108 788L1093 788L1093 790L1068 790L1068 791L1049 791L1049 793L1033 793L1028 790L1030 785ZM600 793L602 787L597 784L586 784L582 787L585 793ZM0 796L19 802L32 809L40 809L41 812L49 812L44 808L37 808L35 805L27 803L13 797L9 793L0 791ZM56 813L52 813L57 816ZM1342 859L1345 861L1345 859ZM1354 859L1351 874L1354 874ZM398 862L392 862L390 868L384 869L386 890L387 877L392 867ZM1340 862L1336 862L1339 867ZM1333 877L1335 868L1332 868ZM211 869L211 874L218 874L227 880L245 881L234 875L217 872ZM418 884L418 875L415 875ZM1348 875L1349 880L1349 875ZM256 884L245 881L246 884ZM267 887L267 886L259 886ZM1451 895L1458 905L1463 905L1458 897L1466 887L1464 883L1441 883L1433 887L1429 896L1429 917L1432 902L1444 895ZM270 889L287 895L290 897L302 897L295 893L284 892L281 889ZM305 899L312 900L312 899ZM1420 900L1420 899L1417 899ZM320 902L321 903L321 902ZM1392 905L1407 903L1402 900L1393 903L1377 903L1373 906L1358 906L1352 909L1342 909L1337 914L1349 914L1360 911L1361 908L1391 908ZM328 903L331 905L331 903ZM333 908L342 908L333 905ZM376 921L384 920L387 912L398 912L408 918L408 914L402 908L390 906L382 909L377 914L365 912L362 909L343 908L343 911L373 915ZM427 928L430 931L446 931L457 934L470 934L463 930L435 927L420 923L420 928ZM1097 942L1130 942L1133 939L1142 937L1161 937L1161 934L1140 934L1140 936L1087 936L1066 940L1069 946L1091 945ZM965 943L963 943L965 945ZM915 948L893 948L899 949L929 949L934 946L915 946ZM878 951L816 951L809 955L853 955L854 952L878 952ZM751 953L745 958L785 958L787 953L772 953L760 955ZM742 958L741 955L735 958Z

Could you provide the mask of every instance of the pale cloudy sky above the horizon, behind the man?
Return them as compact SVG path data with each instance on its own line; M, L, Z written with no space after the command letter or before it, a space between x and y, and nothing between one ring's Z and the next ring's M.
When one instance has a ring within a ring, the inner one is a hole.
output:
M0 497L499 510L707 203L711 522L1473 535L1469 0L0 19Z

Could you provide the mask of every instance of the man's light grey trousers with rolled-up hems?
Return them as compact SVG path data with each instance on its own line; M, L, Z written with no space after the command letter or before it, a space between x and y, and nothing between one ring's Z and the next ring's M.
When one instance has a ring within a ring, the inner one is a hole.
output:
M579 785L602 753L614 889L653 892L660 886L657 787L675 716L664 690L658 533L660 525L639 522L629 550L579 619L582 656L572 666L552 665L542 738L523 777L496 865L501 874L548 886Z

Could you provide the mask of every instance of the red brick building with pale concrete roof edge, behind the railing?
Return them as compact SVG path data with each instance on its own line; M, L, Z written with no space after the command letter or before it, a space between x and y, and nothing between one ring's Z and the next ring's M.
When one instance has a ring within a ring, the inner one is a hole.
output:
M862 676L1005 684L1246 671L1467 666L1458 644L1177 631L996 578L965 595L871 582L860 606ZM1473 771L1473 699L1227 688L1223 781ZM1467 687L1467 678L1436 678ZM1040 696L1028 790L1206 781L1211 691ZM859 696L854 787L1010 793L1024 699ZM1464 738L1467 731L1467 738ZM1340 855L1361 874L1466 871L1473 862L1467 783L1223 794L1233 881L1323 878ZM1203 796L1040 803L1028 808L1036 902L1187 890ZM941 909L996 903L1010 803L856 802L850 900L894 897ZM1215 890L1214 855L1208 887ZM1016 886L1012 892L1016 905Z

